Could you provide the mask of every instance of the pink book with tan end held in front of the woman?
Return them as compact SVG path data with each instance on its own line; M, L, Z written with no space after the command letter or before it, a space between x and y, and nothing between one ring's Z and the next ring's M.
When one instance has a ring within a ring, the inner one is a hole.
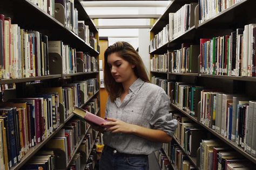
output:
M103 123L109 122L95 114L90 113L89 111L86 111L78 107L75 107L75 110L73 111L73 113L79 117L84 118L86 122L94 123L99 126L102 126Z

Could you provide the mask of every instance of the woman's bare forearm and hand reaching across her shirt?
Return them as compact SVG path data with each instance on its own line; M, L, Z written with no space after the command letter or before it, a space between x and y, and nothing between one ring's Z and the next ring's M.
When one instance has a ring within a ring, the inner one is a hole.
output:
M125 123L113 118L107 118L106 120L112 122L104 123L103 126L111 126L111 128L107 128L106 131L110 131L112 133L134 134L147 140L158 141L161 143L169 143L172 140L172 137L170 137L162 130L148 129L142 126Z

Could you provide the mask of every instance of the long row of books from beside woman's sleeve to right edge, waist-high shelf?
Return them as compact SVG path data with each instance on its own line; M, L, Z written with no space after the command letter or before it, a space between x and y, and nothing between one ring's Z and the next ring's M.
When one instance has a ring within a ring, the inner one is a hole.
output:
M179 108L199 117L201 123L256 157L256 130L253 128L256 114L250 98L180 82L175 83L174 96Z

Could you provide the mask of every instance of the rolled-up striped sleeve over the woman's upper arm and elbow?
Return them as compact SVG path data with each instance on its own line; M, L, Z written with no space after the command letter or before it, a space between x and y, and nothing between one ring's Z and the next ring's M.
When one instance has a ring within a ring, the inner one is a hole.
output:
M160 91L152 108L150 125L152 129L162 130L172 137L177 128L177 120L172 119L169 110L170 100L165 91Z

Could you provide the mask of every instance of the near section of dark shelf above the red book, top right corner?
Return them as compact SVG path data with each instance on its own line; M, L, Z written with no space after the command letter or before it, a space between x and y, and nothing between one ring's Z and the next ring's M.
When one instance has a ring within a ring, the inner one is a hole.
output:
M221 11L214 17L205 20L198 25L198 29L217 28L218 29L233 29L244 27L246 24L253 22L255 18L254 8L248 6L255 6L254 0L241 0L240 2L232 5L230 8Z

